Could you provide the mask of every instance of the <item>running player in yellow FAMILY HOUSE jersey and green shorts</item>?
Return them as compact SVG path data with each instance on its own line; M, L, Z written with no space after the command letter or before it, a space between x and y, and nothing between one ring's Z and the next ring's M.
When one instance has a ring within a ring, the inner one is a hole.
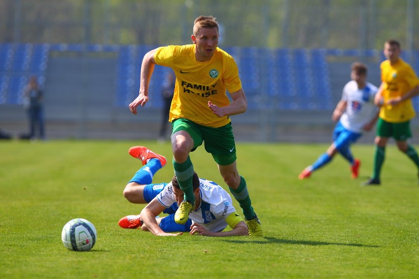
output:
M233 57L217 47L218 23L214 17L200 16L194 22L193 44L166 46L147 53L141 65L140 92L129 104L132 113L149 100L149 83L154 65L167 66L176 75L175 93L170 107L172 151L175 175L184 193L177 223L187 221L195 208L192 189L193 165L189 153L204 142L230 192L239 202L250 236L263 236L246 181L236 165L236 144L230 115L243 113L247 101ZM230 93L230 102L226 92Z

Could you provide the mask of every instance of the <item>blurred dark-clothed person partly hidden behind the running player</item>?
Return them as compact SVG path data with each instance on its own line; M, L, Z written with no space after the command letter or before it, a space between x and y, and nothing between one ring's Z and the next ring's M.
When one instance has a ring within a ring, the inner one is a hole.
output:
M163 97L163 111L162 122L160 126L160 133L158 140L166 140L167 123L169 123L169 111L172 104L173 93L175 92L175 74L172 71L166 73L166 79L163 83L162 97Z

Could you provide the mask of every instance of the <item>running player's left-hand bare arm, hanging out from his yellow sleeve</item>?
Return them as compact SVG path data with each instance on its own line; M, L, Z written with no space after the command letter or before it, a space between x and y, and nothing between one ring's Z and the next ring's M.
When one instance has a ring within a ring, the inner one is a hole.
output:
M129 110L134 114L137 114L138 106L141 105L144 107L149 101L149 85L151 75L154 71L154 65L156 64L156 61L154 60L156 50L157 49L149 51L143 58L140 74L140 92L138 93L138 97L128 106Z

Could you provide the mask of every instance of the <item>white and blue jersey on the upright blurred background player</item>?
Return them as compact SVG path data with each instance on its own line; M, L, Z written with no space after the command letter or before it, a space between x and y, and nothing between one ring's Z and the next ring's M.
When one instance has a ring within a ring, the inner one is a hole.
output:
M362 133L362 127L369 123L378 111L374 105L377 91L377 86L368 82L361 89L355 81L350 81L343 87L342 100L346 101L347 106L339 121L346 130Z

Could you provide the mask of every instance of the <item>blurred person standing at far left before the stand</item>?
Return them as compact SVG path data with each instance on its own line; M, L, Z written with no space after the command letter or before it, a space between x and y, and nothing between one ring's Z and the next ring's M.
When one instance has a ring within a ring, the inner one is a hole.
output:
M28 138L30 140L36 139L36 132L38 132L39 139L44 140L43 91L38 84L36 76L30 77L29 84L24 90L23 100L24 108L27 110L29 117L30 131Z

